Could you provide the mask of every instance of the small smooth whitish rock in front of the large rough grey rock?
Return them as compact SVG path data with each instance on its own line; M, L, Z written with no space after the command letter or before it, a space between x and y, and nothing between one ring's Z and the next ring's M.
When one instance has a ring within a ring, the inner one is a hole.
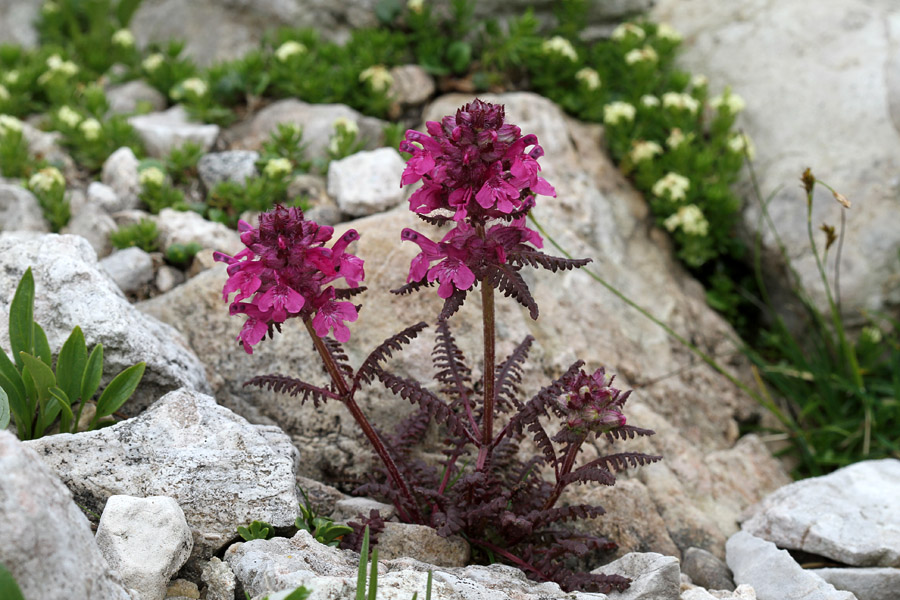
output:
M178 503L167 496L110 496L97 526L97 546L140 600L162 600L194 540Z

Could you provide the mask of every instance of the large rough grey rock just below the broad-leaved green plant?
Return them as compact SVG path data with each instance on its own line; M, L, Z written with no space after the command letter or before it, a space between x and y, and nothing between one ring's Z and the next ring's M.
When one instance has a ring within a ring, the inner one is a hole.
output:
M208 559L253 520L288 527L297 517L294 464L279 445L215 399L181 389L143 414L97 431L28 442L78 501L101 512L110 496L174 498Z

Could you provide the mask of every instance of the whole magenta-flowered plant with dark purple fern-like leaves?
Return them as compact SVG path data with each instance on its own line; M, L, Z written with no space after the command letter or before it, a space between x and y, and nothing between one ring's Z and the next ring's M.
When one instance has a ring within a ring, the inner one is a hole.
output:
M500 558L530 577L556 581L565 589L625 589L629 582L623 577L578 573L563 564L569 556L615 544L558 527L599 516L601 507L557 503L571 484L612 485L616 471L661 458L614 453L576 466L589 438L605 437L612 443L653 432L626 424L622 407L629 393L612 387L613 378L603 369L589 374L578 361L531 399L522 400L522 365L533 338L526 337L505 360L495 357L495 289L536 319L537 303L519 271L525 266L566 270L589 262L542 253L541 237L525 226L536 196L555 195L539 175L543 150L536 136L523 136L507 123L503 106L475 100L440 123L429 122L427 133L407 131L400 149L412 155L401 184L423 182L410 197L410 209L428 223L453 226L438 242L413 229L401 232L401 239L417 244L421 252L410 264L406 285L394 290L407 294L438 285L444 306L433 356L443 395L383 366L425 323L388 338L358 369L347 363L339 342L349 339L346 322L357 318L358 307L346 299L363 289L363 263L346 249L359 235L351 229L328 248L330 227L305 220L300 209L281 206L263 214L258 228L241 223L246 250L235 257L216 254L228 264L224 296L236 292L231 312L246 317L238 338L247 352L286 319L302 319L331 383L323 387L283 375L259 376L248 383L300 395L316 405L337 400L347 406L386 475L358 491L388 498L403 521L430 525L444 536L462 535L477 557ZM332 285L341 278L349 287ZM475 287L480 288L483 315L480 382L473 379L448 321ZM354 399L361 386L376 379L418 406L393 434L377 432ZM545 427L542 418L557 424ZM431 421L449 431L446 458L439 466L413 457L413 447ZM526 432L540 453L522 461L517 450ZM377 516L372 520L379 521Z

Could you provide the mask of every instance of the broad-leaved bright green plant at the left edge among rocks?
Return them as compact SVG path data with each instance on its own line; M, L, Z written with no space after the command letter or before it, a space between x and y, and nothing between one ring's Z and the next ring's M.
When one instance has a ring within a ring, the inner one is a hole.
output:
M16 288L9 310L9 345L13 360L0 352L0 388L9 404L20 439L43 436L59 420L61 432L75 433L82 411L100 387L103 345L88 355L84 334L76 326L63 343L52 366L44 330L34 321L34 278L29 268ZM137 389L144 375L143 362L128 367L106 386L86 430L115 413ZM77 405L77 410L76 410Z

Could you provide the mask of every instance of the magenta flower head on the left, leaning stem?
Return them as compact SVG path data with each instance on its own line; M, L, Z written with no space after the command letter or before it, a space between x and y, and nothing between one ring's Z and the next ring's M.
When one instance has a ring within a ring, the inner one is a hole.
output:
M337 290L328 284L343 278L355 288L362 281L362 259L346 252L359 239L356 230L347 231L326 248L333 227L304 219L299 208L283 206L262 213L258 228L240 221L238 230L247 248L233 257L222 252L213 256L228 264L223 298L227 301L237 292L231 314L247 317L238 340L248 354L274 325L292 317L312 318L321 337L333 331L338 341L350 339L345 322L356 320L356 306L336 300Z

